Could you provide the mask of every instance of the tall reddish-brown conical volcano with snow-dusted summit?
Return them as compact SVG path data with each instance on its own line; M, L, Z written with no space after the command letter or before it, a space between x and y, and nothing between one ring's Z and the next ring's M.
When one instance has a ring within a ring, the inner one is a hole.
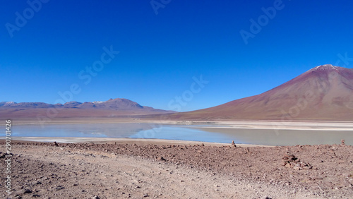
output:
M260 95L169 118L353 120L353 69L317 66Z

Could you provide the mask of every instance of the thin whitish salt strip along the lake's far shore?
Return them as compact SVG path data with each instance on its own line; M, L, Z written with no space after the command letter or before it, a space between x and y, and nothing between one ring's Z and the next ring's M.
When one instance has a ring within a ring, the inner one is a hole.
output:
M162 123L180 125L212 125L202 128L253 128L253 129L287 129L287 130L332 130L353 131L352 121L181 121L156 119L110 119L110 118L73 118L52 119L40 122L37 119L13 119L13 125L46 125L46 124L91 124L91 123Z

